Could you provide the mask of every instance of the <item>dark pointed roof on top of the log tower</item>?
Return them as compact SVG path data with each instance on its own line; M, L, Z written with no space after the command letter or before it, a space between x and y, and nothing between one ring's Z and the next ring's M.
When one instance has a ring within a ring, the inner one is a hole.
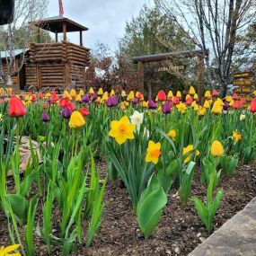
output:
M55 33L63 32L64 23L66 23L66 32L88 31L88 28L72 20L69 20L63 16L49 17L37 22L30 22L30 23L32 25L39 27L42 30L51 31Z

